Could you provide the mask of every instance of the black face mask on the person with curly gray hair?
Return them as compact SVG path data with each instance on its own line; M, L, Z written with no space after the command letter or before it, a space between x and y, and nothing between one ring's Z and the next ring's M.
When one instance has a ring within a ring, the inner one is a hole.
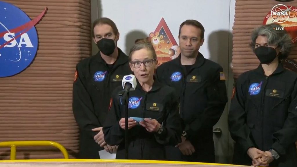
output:
M268 46L259 46L255 49L255 54L261 64L269 64L277 57L277 51Z

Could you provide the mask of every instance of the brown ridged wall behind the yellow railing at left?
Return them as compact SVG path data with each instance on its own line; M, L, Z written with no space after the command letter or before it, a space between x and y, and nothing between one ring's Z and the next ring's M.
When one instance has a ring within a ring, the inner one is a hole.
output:
M50 140L70 158L78 153L78 126L72 114L76 64L91 54L90 0L4 0L31 19L48 10L35 26L39 47L22 73L0 78L0 141ZM0 160L10 148L0 148ZM17 147L17 159L63 158L54 147Z

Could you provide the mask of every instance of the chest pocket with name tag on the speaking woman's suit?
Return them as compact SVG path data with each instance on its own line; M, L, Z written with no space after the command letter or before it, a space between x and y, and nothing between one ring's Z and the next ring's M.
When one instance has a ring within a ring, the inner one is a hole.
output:
M156 119L159 123L164 119L164 108L162 103L146 103L146 118Z

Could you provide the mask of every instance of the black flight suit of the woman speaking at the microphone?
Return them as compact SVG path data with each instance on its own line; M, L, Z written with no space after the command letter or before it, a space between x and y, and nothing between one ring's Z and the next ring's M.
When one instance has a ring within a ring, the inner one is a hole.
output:
M125 130L119 125L125 117L118 94L113 94L113 104L108 113L108 121L103 126L107 144L119 145L116 159L125 159ZM145 92L139 83L129 95L129 117L156 119L163 131L161 134L148 132L141 125L129 129L129 156L136 160L165 160L165 145L175 146L181 142L181 121L178 114L178 99L175 90L155 81L152 89Z

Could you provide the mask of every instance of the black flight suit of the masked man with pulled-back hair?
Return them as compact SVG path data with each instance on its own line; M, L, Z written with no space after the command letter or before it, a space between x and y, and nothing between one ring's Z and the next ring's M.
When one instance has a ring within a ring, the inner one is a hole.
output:
M132 74L128 56L119 49L112 67L98 52L77 64L77 80L73 83L73 114L80 129L79 158L98 159L100 147L91 129L102 127L110 107L112 91L120 86L124 75Z

